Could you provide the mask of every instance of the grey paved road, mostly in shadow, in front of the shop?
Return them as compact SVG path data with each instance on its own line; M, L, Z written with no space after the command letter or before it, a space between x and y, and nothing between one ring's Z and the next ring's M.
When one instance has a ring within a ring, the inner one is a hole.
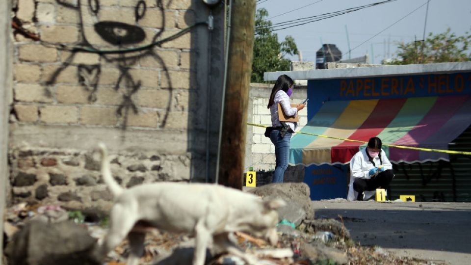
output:
M314 201L315 218L342 216L353 239L399 256L471 264L471 203Z

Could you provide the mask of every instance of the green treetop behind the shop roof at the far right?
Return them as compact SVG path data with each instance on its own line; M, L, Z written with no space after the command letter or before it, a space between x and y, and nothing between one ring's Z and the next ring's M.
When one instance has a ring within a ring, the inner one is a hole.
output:
M425 41L398 44L398 58L386 64L464 62L471 60L471 34L456 36L448 28L444 33L429 33ZM422 47L423 45L423 47Z

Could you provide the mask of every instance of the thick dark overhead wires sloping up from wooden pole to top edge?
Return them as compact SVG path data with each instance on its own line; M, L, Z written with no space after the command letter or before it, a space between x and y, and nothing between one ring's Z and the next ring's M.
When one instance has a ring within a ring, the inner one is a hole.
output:
M275 24L272 24L270 26L260 26L260 27L256 27L256 29L263 28L263 29L271 29L271 31L276 31L276 30L286 29L286 28L289 28L289 27L297 27L297 26L308 24L308 23L316 22L316 21L319 21L319 20L344 15L344 14L354 12L354 11L358 11L358 10L361 10L361 9L364 9L364 8L367 8L367 7L388 3L388 2L391 2L391 1L396 1L396 0L385 0L385 1L382 1L382 2L370 3L370 4L366 4L366 5L362 5L362 6L343 9L343 10L340 10L340 11L324 13L324 14L321 14L321 15L305 17L305 18L300 18L300 19L295 19L295 20L288 20L288 21L285 21L285 22L275 23ZM288 25L292 25L292 26L288 26ZM285 27L285 26L288 26L288 27ZM282 28L277 28L277 27L282 27Z

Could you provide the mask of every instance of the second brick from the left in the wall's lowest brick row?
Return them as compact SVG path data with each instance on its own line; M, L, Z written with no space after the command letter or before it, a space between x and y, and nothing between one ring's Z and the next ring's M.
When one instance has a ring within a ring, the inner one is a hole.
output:
M77 123L78 111L75 106L44 106L40 109L41 121L47 124Z

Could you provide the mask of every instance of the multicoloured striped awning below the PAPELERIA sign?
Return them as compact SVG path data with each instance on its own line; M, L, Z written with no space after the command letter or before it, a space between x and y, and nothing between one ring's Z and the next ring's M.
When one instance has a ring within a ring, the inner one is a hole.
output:
M291 138L290 164L343 164L370 137L383 144L447 150L471 124L471 96L328 101ZM341 138L341 139L338 139ZM383 146L393 162L448 160L448 154Z

